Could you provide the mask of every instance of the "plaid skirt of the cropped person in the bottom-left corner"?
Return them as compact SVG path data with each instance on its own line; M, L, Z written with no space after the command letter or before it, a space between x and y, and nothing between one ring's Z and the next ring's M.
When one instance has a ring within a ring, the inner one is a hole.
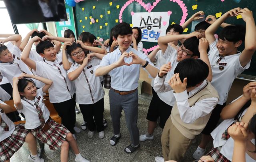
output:
M18 124L11 136L0 142L0 161L9 160L12 155L17 152L24 144L28 130L25 124Z

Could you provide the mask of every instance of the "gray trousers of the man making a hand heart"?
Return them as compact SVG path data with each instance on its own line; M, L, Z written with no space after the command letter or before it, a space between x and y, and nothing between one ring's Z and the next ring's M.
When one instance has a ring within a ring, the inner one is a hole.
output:
M120 95L112 88L109 93L110 115L114 128L114 134L120 133L120 117L124 110L126 126L130 132L132 144L134 146L139 144L139 129L137 127L138 120L138 90L131 94Z

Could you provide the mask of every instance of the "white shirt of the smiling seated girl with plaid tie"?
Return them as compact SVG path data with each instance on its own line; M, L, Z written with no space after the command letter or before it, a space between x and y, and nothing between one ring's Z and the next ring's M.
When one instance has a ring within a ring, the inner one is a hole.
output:
M40 88L36 91L36 97L34 98L34 100L28 100L25 97L21 99L23 107L22 107L22 109L17 109L17 110L18 110L18 112L20 112L20 113L22 112L25 115L25 118L26 118L25 128L26 129L34 129L41 125L39 116L38 116L38 112L36 110L36 104L39 104L39 106L42 110L42 113L44 116L44 122L46 122L49 119L50 112L44 104L44 98L43 98L44 95L45 95L45 93L42 91L42 88Z

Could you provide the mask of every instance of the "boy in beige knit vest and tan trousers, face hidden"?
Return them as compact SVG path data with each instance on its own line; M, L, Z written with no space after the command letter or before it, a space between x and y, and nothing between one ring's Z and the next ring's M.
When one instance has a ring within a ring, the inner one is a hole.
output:
M218 92L206 78L208 65L200 59L188 58L178 63L170 86L176 104L161 136L164 161L181 160L191 140L204 129L218 102ZM163 161L156 157L157 161Z

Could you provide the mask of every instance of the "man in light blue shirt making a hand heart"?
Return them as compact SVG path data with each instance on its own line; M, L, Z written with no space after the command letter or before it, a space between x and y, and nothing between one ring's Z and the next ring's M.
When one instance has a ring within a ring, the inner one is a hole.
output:
M132 144L125 148L126 153L134 152L139 146L138 120L138 79L140 65L152 76L156 77L158 69L141 52L130 47L132 43L132 28L122 22L115 26L113 36L118 42L118 48L102 58L96 68L95 75L102 76L109 72L111 76L110 115L112 118L114 136L110 144L115 146L121 137L120 117L124 110L126 125L130 132Z

